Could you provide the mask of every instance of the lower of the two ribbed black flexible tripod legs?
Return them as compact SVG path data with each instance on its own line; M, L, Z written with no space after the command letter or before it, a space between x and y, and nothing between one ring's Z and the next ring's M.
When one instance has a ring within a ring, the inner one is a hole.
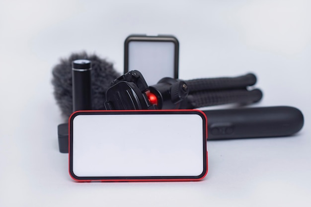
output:
M259 89L248 91L246 89L198 91L188 96L187 108L199 108L229 103L254 103L262 98Z

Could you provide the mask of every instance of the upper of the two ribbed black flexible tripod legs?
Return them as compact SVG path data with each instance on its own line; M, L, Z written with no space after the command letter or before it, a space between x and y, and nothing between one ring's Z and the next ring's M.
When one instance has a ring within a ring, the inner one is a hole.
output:
M187 80L186 84L190 92L201 90L215 89L233 89L246 88L246 86L256 83L256 76L253 73L247 73L237 77L220 77L220 78L200 78Z

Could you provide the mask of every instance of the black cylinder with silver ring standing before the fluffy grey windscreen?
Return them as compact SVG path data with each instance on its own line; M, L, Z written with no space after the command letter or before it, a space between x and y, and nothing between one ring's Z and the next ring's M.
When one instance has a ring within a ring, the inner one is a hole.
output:
M89 60L76 60L72 62L73 112L92 109L91 69Z

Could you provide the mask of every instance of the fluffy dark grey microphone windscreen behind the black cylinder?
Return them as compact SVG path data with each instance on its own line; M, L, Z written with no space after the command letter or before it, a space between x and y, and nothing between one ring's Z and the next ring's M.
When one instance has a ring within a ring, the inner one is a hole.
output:
M61 59L60 63L52 69L52 84L54 97L65 119L68 119L73 113L72 62L80 59L92 62L92 110L105 108L106 90L110 87L111 81L120 76L120 73L113 68L112 63L96 55L88 55L86 52L73 53L69 58Z

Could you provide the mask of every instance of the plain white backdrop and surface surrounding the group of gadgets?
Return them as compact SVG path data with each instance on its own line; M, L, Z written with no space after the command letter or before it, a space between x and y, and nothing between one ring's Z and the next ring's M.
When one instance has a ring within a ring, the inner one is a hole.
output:
M309 206L310 10L309 0L1 0L0 207ZM295 106L304 128L208 141L201 182L74 182L58 151L51 69L86 50L122 72L132 33L175 35L182 79L253 71L264 92L253 106Z

